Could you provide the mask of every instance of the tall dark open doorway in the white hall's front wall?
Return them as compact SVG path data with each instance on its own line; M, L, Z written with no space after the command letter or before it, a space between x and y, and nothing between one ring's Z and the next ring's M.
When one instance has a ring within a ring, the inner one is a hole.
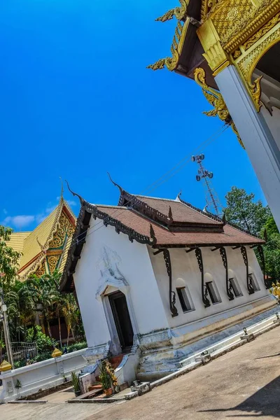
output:
M120 339L120 346L122 351L129 351L133 344L133 329L127 300L122 292L115 292L109 295L109 301L118 331L118 338Z

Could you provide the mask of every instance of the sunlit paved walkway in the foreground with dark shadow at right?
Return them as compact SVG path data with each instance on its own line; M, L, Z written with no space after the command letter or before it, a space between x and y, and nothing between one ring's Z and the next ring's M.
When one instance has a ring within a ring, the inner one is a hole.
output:
M209 365L113 405L2 405L5 420L260 420L280 419L280 328Z

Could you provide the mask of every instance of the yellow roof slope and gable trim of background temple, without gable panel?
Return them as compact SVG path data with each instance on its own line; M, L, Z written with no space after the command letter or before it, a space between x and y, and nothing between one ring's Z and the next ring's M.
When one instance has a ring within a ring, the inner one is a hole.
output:
M57 232L59 226L59 219L64 216L69 220L69 223L74 226L76 224L76 216L71 211L66 201L61 197L58 206L50 213L34 230L29 232L13 232L10 235L10 241L7 245L15 251L22 253L19 260L18 276L21 280L27 279L36 269L40 267L46 258L50 243ZM69 237L66 242L69 241ZM55 248L55 246L52 246ZM64 249L67 249L65 246ZM63 269L66 255L64 251L61 252L61 261L59 270Z

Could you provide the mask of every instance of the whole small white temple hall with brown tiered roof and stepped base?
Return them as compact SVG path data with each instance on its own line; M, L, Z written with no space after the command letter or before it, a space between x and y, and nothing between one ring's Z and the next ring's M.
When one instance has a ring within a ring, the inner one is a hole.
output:
M90 363L125 354L130 379L155 379L205 348L214 333L221 340L271 314L262 239L180 195L119 188L118 206L78 196L60 285L78 297Z

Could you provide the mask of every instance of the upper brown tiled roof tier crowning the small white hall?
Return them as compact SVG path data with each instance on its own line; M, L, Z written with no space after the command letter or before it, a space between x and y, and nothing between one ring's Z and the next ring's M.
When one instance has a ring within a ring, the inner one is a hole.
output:
M207 214L202 214L202 212L197 211L194 207L189 207L180 201L166 200L165 198L145 197L143 195L136 195L136 197L166 216L168 216L169 208L171 208L174 222L211 225L223 224L223 222L215 221L214 218L207 216Z

